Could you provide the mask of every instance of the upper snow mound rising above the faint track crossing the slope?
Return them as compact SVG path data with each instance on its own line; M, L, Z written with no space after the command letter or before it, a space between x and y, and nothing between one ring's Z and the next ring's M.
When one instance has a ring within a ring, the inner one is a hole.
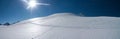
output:
M119 17L81 17L72 13L58 13L23 21L25 22L50 27L120 28Z

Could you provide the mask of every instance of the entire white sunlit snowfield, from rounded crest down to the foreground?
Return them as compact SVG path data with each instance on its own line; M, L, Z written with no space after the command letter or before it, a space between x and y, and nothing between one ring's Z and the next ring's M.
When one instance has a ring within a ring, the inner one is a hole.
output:
M0 39L120 39L120 18L58 13L0 26Z

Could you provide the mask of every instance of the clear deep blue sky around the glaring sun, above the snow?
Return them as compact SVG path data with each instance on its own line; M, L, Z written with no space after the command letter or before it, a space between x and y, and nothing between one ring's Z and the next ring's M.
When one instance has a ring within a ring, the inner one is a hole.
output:
M120 17L119 0L38 0L49 6L38 6L34 13L26 10L21 0L0 0L0 23L16 22L54 13L83 13L85 16Z

